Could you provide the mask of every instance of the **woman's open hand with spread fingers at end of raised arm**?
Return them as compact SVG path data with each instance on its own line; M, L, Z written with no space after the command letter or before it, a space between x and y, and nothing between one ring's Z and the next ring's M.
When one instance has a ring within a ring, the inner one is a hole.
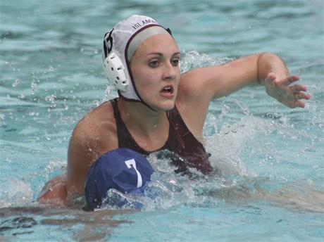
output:
M289 108L304 108L305 103L300 100L309 100L309 98L311 98L311 95L304 93L304 91L307 91L307 87L304 85L290 85L293 82L297 82L298 80L299 76L297 75L292 75L287 77L286 79L280 80L277 79L273 72L270 72L264 82L266 93Z

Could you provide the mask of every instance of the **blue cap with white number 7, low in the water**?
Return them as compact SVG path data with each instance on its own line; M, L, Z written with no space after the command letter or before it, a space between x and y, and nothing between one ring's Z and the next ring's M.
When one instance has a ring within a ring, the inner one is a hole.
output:
M87 206L84 209L101 208L104 198L111 204L107 198L110 189L144 196L144 186L153 172L149 161L129 148L104 153L92 164L85 179Z

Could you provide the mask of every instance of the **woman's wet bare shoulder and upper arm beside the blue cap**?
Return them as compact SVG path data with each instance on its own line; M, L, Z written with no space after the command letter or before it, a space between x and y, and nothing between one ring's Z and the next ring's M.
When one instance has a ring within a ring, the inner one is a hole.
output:
M68 146L66 191L83 193L85 177L94 160L118 148L116 122L110 102L92 109L80 120Z

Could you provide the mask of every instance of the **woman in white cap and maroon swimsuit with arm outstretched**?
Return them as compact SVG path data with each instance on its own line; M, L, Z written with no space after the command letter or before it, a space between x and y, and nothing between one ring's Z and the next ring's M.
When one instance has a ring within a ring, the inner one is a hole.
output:
M68 147L66 179L49 181L49 190L39 200L69 205L84 193L92 163L116 148L143 155L168 150L174 154L175 172L192 167L213 174L203 137L213 99L260 84L289 108L304 108L301 100L310 98L304 85L291 85L299 77L289 76L285 63L272 53L181 74L180 51L170 30L142 15L132 15L106 33L103 59L104 73L119 98L102 103L80 120Z

